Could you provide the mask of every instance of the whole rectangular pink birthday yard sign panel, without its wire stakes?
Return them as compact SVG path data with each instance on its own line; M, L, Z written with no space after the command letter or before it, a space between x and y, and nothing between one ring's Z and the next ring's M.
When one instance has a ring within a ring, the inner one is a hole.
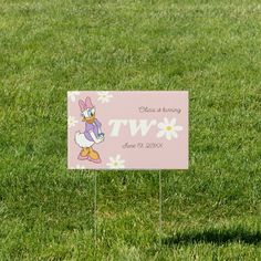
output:
M187 169L188 92L67 92L69 169Z

